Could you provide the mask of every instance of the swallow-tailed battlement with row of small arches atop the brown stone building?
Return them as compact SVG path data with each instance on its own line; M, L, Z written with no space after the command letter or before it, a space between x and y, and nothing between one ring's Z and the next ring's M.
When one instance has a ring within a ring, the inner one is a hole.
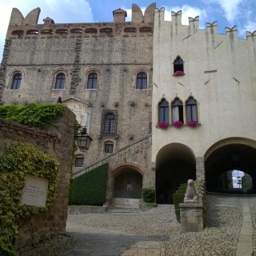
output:
M10 16L7 38L45 38L48 37L97 37L114 36L115 34L142 35L153 34L154 9L152 3L142 14L142 10L135 4L132 6L131 22L126 22L126 11L114 10L114 22L86 22L86 23L55 23L52 18L44 18L44 24L38 24L40 8L31 10L24 18L22 13L14 8Z

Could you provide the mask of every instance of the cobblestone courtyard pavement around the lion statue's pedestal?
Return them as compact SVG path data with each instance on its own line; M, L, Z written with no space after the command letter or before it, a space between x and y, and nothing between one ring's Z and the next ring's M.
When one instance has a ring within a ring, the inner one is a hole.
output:
M197 233L180 233L174 206L160 205L146 211L71 214L67 234L42 242L22 256L75 255L229 255L236 254L245 198L208 194L206 228ZM256 197L248 199L256 222ZM256 256L256 235L253 235ZM241 255L245 256L245 255Z

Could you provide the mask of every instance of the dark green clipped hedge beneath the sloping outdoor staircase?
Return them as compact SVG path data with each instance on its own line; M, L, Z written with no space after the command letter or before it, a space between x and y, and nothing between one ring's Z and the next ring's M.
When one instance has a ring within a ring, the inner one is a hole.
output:
M70 184L70 205L102 206L106 201L108 163L74 178Z

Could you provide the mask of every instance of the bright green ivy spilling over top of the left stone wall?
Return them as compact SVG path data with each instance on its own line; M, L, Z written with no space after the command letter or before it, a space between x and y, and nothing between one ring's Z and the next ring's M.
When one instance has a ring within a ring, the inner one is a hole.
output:
M53 125L56 119L64 114L66 108L67 106L56 103L3 105L0 106L0 118L42 129L47 125Z

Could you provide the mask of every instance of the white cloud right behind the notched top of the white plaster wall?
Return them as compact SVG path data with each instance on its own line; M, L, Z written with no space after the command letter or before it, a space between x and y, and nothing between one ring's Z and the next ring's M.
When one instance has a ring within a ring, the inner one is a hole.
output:
M195 18L196 16L199 16L199 22L201 24L206 23L207 18L207 12L204 9L200 9L197 7L192 6L172 6L172 7L165 7L165 20L170 21L171 20L171 11L178 12L178 10L182 10L182 24L188 25L189 24L189 17Z

